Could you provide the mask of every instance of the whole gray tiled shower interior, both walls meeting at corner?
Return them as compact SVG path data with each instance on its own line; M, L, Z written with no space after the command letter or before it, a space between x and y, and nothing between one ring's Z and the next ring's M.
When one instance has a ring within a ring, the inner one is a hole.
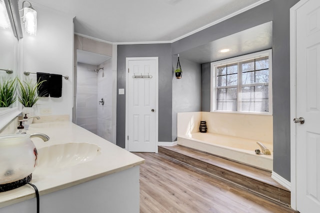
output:
M96 74L93 70L103 67ZM112 137L112 59L99 66L77 63L76 86L76 124L103 137L115 141ZM98 101L103 97L104 105Z

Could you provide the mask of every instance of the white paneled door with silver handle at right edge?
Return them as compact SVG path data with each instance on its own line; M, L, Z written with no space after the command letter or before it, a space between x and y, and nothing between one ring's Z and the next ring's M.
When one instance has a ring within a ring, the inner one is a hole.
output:
M320 0L299 3L295 10L296 208L311 213L320 211Z

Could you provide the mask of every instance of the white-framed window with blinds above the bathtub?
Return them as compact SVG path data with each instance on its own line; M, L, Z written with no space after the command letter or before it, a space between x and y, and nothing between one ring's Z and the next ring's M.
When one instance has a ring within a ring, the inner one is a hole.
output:
M267 50L212 62L212 110L270 114L270 54Z

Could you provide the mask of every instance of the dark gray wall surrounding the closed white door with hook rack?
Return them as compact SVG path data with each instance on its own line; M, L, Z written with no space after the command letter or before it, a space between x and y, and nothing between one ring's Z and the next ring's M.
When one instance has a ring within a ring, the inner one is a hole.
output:
M125 88L126 57L159 57L159 141L171 141L172 56L171 44L118 45L117 88ZM126 93L126 91L125 91ZM116 144L125 147L125 94L116 98Z

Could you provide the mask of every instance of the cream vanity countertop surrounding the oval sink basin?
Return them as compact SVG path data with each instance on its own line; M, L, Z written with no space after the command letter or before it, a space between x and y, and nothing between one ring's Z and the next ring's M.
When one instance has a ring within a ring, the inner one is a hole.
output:
M68 120L48 121L41 118L40 120L34 120L26 132L44 133L50 137L50 140L46 142L38 137L33 137L32 141L37 149L53 144L70 142L94 143L100 147L101 153L88 162L63 168L35 168L32 172L31 183L37 186L40 196L122 171L144 162L143 158L126 151ZM0 192L0 207L32 197L35 197L34 189L28 184L13 190Z

